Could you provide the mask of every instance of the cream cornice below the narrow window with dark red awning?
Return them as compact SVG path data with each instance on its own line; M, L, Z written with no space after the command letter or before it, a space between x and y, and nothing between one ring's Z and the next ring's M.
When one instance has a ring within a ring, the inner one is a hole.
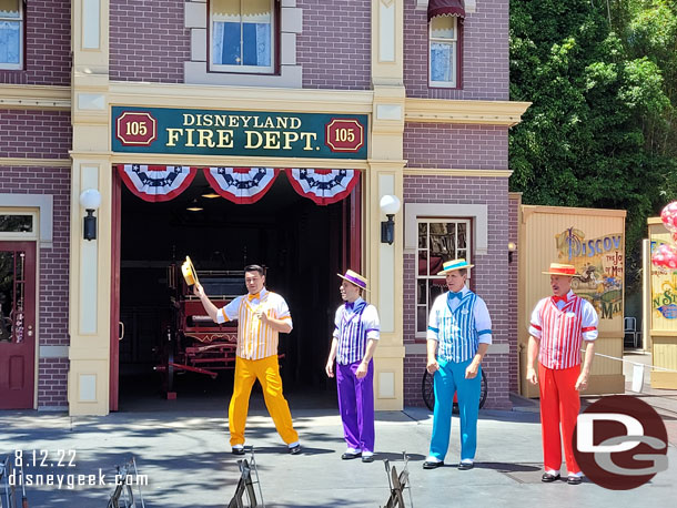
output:
M529 105L531 102L407 98L404 119L406 122L512 126L522 122L522 115Z

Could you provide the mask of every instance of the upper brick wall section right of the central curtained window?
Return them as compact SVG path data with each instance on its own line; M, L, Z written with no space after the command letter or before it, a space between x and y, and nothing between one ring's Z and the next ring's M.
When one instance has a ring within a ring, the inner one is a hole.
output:
M368 90L372 2L296 0L296 7L303 9L303 32L296 35L303 88Z

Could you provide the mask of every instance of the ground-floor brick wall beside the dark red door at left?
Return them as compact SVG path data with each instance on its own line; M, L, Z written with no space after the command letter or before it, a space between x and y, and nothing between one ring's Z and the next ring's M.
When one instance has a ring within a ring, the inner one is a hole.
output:
M0 129L0 142L6 142ZM63 155L63 154L62 154ZM33 155L34 156L34 155ZM40 345L68 346L70 167L0 166L0 193L51 194L53 196L53 237L51 248L40 248L38 298ZM38 407L67 407L68 358L41 358L38 379Z

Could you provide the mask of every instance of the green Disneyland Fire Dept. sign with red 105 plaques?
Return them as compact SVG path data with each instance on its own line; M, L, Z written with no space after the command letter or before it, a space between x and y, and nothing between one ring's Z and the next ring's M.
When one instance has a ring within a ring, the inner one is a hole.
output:
M366 159L367 116L112 108L113 152Z

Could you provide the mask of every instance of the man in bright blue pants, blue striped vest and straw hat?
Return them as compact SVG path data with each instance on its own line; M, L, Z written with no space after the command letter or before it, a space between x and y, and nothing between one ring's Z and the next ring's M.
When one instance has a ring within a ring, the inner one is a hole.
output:
M482 359L492 343L492 318L484 301L465 286L471 265L447 261L437 275L446 276L449 289L435 299L427 329L427 372L434 374L435 412L431 450L424 469L444 466L452 429L454 393L461 417L458 469L472 469L477 449L477 413Z

